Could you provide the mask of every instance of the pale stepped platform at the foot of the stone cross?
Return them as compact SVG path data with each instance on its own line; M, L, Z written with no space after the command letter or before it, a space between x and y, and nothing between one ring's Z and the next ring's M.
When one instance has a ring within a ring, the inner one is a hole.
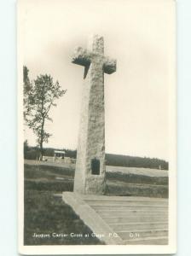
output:
M74 192L63 192L62 199L92 230L92 236L107 245L168 244L168 199Z

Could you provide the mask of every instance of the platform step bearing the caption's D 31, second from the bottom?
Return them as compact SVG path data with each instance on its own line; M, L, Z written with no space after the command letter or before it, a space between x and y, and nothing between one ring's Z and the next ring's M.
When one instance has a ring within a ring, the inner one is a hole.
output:
M123 230L117 233L123 240L134 240L137 236L139 239L168 236L168 230L133 230L133 232Z

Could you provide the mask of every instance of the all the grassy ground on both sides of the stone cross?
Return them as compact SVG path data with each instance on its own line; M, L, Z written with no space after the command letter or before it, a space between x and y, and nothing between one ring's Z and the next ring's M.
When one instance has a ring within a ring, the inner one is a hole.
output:
M24 172L25 245L102 244L72 208L55 196L73 190L73 167L26 164ZM107 195L168 197L168 177L107 172Z

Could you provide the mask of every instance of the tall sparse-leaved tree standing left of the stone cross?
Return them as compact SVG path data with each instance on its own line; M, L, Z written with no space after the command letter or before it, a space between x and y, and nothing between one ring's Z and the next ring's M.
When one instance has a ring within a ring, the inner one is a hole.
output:
M55 100L63 96L67 90L61 90L58 81L54 83L50 75L39 75L37 79L30 81L28 69L23 67L24 82L24 119L26 125L37 137L40 149L40 160L43 159L43 143L48 143L49 134L44 130L46 121L53 121L49 117L49 110L56 106Z

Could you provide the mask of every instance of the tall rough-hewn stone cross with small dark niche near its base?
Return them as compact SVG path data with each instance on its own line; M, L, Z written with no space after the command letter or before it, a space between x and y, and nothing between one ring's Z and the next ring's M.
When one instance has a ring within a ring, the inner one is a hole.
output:
M103 37L78 47L72 63L84 66L74 192L103 195L106 189L104 73L116 71L116 60L104 56Z

